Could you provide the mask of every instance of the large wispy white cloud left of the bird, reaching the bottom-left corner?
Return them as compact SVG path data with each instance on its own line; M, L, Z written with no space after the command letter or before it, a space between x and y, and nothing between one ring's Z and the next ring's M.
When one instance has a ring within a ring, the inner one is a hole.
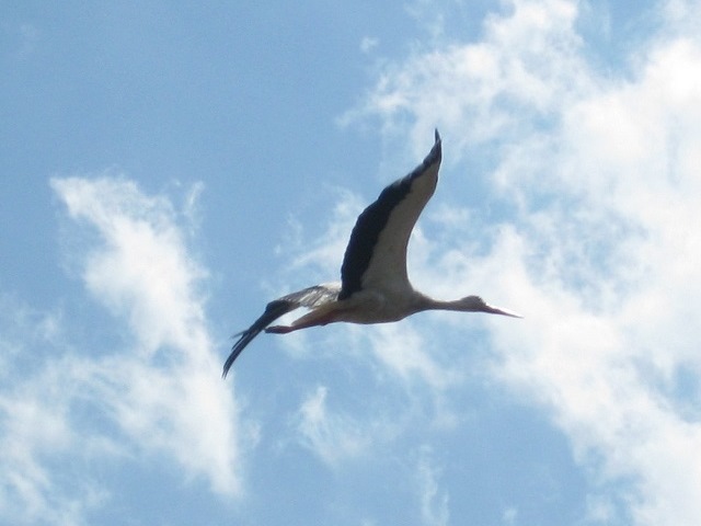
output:
M85 227L66 227L73 240L82 237L71 263L128 336L119 348L80 348L60 330L72 320L44 316L37 331L42 317L34 316L3 341L15 368L26 368L24 356L37 348L51 353L0 389L0 516L82 524L115 490L97 476L115 459L166 459L185 480L239 494L246 432L231 384L220 380L204 313L206 272L188 251L182 218L166 197L125 179L55 179L51 186Z

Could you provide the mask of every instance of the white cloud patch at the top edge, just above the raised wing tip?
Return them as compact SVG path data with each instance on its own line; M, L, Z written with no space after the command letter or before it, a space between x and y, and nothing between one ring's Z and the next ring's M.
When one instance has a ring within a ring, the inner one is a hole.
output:
M486 19L475 44L435 44L403 64L390 62L366 103L342 122L378 116L387 134L403 138L411 126L417 153L437 126L457 145L451 162L468 147L513 136L524 114L548 117L573 89L590 82L576 53L576 15L565 0L516 1L512 15Z

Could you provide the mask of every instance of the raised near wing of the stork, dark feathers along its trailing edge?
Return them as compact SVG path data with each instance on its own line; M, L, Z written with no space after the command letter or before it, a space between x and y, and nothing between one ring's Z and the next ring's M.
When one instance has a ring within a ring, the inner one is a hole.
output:
M358 217L341 266L338 299L364 288L407 288L406 245L422 210L438 183L440 135L424 161L387 186Z

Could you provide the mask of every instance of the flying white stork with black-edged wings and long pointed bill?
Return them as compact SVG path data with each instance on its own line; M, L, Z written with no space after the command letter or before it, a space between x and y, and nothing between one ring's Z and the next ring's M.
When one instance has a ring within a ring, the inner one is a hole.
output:
M265 312L239 336L223 364L226 378L239 354L265 331L285 334L336 321L387 323L424 310L489 312L521 318L487 305L479 296L446 301L433 299L412 287L406 274L406 245L416 220L438 183L440 135L423 162L409 175L387 186L355 224L341 265L341 283L314 285L267 304ZM290 325L275 320L299 307L309 309Z

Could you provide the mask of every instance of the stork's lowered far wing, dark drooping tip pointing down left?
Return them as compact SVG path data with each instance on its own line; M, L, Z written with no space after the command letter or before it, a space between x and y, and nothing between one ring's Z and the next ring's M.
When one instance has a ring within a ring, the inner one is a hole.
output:
M295 310L299 307L314 308L321 305L334 301L338 297L341 290L341 284L329 283L323 285L314 285L313 287L304 288L297 293L288 294L279 299L274 299L265 307L265 312L253 322L245 331L242 331L235 336L240 336L237 343L231 347L231 354L223 364L222 378L227 377L231 365L237 359L239 354L251 343L251 341L257 336L267 325L273 323L279 317L287 312Z

